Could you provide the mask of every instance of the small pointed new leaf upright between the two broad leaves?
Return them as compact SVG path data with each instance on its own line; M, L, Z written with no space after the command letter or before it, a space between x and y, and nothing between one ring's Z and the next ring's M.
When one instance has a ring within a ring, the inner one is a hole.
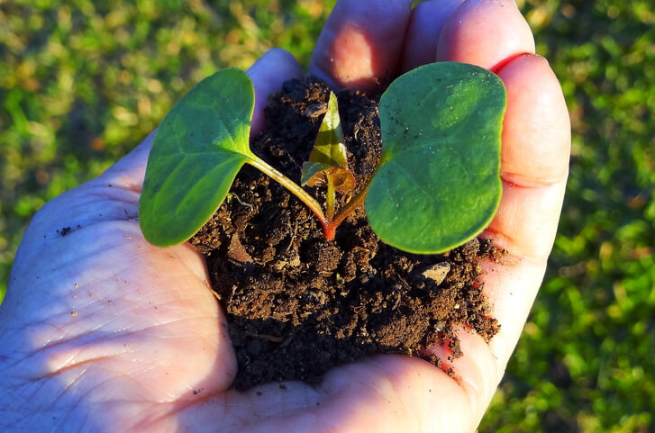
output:
M346 147L343 145L337 96L332 92L314 149L309 161L303 164L301 176L301 185L324 186L328 182L332 182L341 194L348 193L355 186L355 177L348 169Z

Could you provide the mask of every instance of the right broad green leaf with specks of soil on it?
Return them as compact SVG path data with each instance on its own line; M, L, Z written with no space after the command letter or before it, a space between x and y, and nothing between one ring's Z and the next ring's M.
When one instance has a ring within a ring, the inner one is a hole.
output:
M380 239L409 252L455 248L483 230L502 194L500 78L441 62L394 81L380 100L382 158L366 200Z

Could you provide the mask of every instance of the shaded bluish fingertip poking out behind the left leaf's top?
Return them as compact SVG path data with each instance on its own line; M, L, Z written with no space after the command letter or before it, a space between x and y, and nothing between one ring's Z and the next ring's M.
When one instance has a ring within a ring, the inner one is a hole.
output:
M261 56L247 72L255 87L255 110L250 122L252 139L266 126L264 107L267 105L268 95L277 92L287 80L302 79L303 69L287 50L274 48Z

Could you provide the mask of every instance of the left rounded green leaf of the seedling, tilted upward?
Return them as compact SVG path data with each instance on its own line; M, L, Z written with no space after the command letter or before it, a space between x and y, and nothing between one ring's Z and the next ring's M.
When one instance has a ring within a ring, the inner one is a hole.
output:
M223 203L245 162L255 93L248 75L223 69L192 88L159 124L146 167L139 217L143 236L184 242Z

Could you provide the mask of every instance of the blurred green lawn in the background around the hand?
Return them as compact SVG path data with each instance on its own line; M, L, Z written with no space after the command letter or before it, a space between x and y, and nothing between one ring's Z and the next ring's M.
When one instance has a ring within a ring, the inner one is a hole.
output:
M303 65L334 0L0 0L0 299L26 224L217 68ZM480 431L655 431L655 5L523 0L573 124L541 293Z

